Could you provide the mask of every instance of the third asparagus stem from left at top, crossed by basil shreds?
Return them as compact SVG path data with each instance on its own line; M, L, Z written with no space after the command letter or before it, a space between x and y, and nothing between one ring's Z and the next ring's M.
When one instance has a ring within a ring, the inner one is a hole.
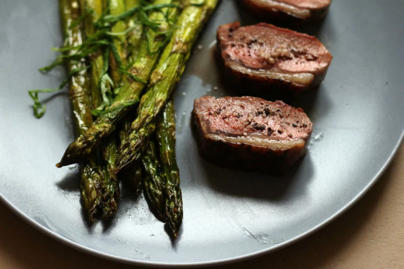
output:
M110 9L110 15L120 15L125 12L125 1L124 0L108 0L108 7ZM126 30L126 24L123 21L116 22L111 27L111 32L119 33L124 32ZM125 35L117 35L114 38L114 45L117 48L119 57L121 58L122 64L125 65L126 62L126 37ZM121 80L122 75L117 71L118 63L115 60L113 53L111 52L110 57L110 66L113 66L111 70L111 78L114 82L114 85L118 85Z

